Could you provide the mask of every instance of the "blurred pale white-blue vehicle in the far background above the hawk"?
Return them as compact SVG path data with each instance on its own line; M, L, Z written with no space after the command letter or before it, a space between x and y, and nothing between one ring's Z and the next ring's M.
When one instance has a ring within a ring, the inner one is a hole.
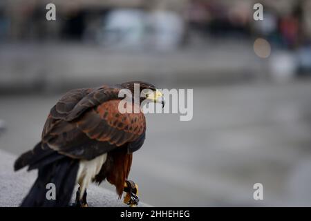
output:
M97 42L109 48L175 50L185 32L182 17L165 10L113 10L102 23Z

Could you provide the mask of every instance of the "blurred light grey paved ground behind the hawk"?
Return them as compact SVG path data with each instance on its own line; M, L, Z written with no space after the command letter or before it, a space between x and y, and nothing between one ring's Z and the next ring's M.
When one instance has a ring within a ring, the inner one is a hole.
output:
M194 119L148 115L131 179L154 206L311 205L311 82L194 88ZM0 148L39 140L59 95L0 97ZM253 199L253 184L264 200ZM111 188L109 184L104 184Z

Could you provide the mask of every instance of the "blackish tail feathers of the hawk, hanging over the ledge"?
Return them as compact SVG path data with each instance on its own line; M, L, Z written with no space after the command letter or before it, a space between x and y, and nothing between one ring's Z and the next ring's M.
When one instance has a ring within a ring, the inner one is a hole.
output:
M79 161L64 157L61 160L40 167L37 180L30 189L28 195L21 203L23 207L30 206L68 206L75 187ZM53 189L47 188L47 184L55 184L55 200L48 200Z

